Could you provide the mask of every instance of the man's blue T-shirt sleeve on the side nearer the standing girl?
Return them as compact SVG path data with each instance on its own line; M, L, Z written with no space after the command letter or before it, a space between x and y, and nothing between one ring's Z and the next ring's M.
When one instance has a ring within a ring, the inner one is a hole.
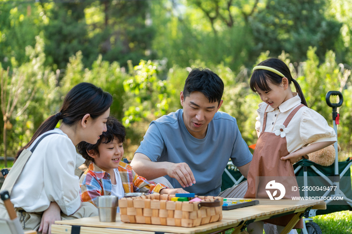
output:
M236 167L241 167L252 161L252 154L245 141L243 140L241 133L237 127L237 123L234 123L234 143L232 148L231 160Z

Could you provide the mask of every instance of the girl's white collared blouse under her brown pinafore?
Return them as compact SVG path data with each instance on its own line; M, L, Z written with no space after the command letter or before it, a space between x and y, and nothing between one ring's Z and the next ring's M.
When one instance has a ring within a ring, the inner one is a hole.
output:
M284 124L292 110L301 104L301 98L297 93L294 97L284 101L277 108L268 106L261 102L258 105L258 116L256 118L255 130L261 133L264 113L267 112L267 125L265 132L274 133L276 125ZM268 106L268 108L267 108ZM267 110L265 110L267 108ZM306 106L301 107L293 116L287 126L289 132L286 134L287 151L292 153L309 143L337 141L336 134L324 117Z

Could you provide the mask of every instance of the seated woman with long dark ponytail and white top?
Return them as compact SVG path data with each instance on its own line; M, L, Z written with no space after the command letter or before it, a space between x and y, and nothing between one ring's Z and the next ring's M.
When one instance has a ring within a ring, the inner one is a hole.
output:
M81 141L97 143L107 130L111 103L110 93L90 83L77 84L65 96L60 111L44 121L18 152L2 190L11 193L24 229L50 233L55 220L98 215L94 205L80 201L74 172L84 159L75 146ZM0 203L0 217L7 215Z

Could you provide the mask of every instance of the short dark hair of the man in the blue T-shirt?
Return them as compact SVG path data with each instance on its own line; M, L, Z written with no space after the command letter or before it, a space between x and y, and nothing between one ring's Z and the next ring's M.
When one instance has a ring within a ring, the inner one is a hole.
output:
M184 97L190 96L194 91L203 93L210 102L220 102L224 92L224 82L207 68L194 68L186 79Z

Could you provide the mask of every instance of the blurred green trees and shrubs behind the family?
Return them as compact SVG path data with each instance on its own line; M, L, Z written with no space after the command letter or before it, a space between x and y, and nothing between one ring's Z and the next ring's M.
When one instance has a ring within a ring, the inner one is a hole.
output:
M254 144L260 99L248 81L269 57L289 65L308 106L331 125L325 94L343 93L338 140L351 156L351 32L344 0L0 0L1 156L13 157L85 81L114 96L132 159L150 121L181 108L194 67L223 79L220 110Z

